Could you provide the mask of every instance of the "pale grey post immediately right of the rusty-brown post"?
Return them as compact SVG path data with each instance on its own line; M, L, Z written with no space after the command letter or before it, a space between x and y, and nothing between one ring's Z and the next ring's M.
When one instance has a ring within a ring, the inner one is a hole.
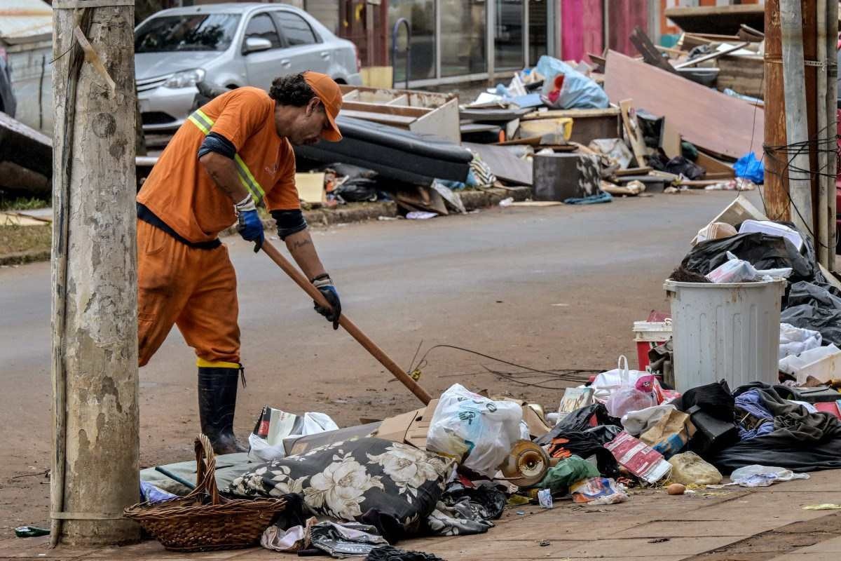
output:
M807 86L803 56L803 13L801 0L780 0L783 87L785 95L786 144L809 140ZM804 236L814 232L812 220L812 181L808 146L787 152L791 221Z

